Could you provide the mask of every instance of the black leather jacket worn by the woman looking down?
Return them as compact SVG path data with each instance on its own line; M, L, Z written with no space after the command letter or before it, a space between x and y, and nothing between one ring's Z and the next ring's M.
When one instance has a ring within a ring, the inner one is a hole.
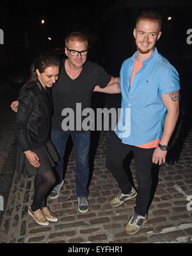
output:
M51 89L38 81L26 85L19 95L15 127L22 151L41 147L49 139L51 129Z

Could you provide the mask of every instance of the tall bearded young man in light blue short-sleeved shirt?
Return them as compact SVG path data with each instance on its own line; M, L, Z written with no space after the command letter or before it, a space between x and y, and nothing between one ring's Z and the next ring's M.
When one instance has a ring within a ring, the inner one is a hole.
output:
M121 190L111 200L111 206L136 197L134 214L125 227L127 234L135 234L147 221L152 163L165 163L179 116L179 75L155 47L161 36L161 23L159 14L141 13L133 31L137 51L122 64L119 84L100 89L122 93L121 114L111 136L106 166ZM136 164L137 192L122 166L130 151Z

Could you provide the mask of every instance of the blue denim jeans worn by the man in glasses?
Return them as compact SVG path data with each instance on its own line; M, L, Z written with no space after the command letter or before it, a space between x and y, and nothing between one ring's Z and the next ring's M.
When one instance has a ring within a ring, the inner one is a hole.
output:
M61 132L54 129L51 130L51 140L54 143L60 161L56 165L56 172L60 177L58 184L63 180L63 156L65 154L65 146L67 143L70 132ZM90 131L83 133L71 133L74 143L74 150L76 156L76 193L78 197L87 196L88 177L89 177L89 164L88 156L90 149Z

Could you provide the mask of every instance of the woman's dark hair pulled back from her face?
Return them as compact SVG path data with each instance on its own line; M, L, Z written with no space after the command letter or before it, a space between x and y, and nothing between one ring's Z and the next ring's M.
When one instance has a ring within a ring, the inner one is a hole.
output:
M61 67L61 61L57 56L49 52L44 52L37 56L31 65L29 77L24 86L22 86L21 90L27 84L36 83L36 81L38 80L36 69L38 69L40 73L43 73L46 68L51 66Z

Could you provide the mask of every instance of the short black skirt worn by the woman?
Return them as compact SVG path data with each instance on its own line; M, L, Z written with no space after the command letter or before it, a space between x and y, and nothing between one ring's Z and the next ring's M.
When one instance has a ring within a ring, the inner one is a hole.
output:
M52 167L55 166L55 162L60 160L60 157L58 156L58 152L56 151L56 148L52 144L52 142L49 140L42 147L31 150L32 152L35 152L37 156L40 159L40 167L35 168L32 166L27 157L25 156L24 152L22 152L17 145L17 157L16 157L16 167L15 171L17 173L26 173L27 175L37 175L42 174L46 172L50 172L52 170Z

